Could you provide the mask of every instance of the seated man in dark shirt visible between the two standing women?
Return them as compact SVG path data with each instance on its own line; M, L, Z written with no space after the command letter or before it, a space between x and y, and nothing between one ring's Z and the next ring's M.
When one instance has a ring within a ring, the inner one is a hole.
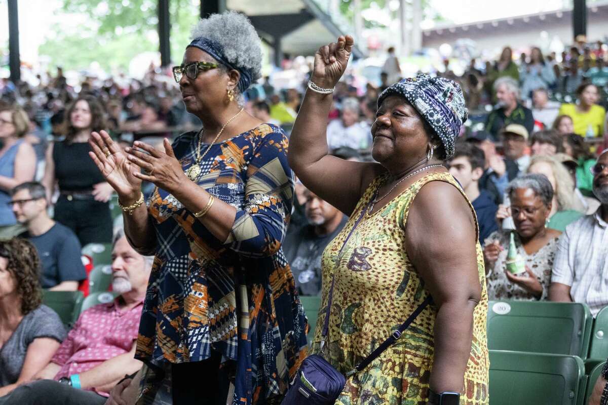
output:
M342 230L347 217L313 192L305 190L304 195L308 224L288 232L283 252L291 265L298 293L318 295L321 291L321 255Z

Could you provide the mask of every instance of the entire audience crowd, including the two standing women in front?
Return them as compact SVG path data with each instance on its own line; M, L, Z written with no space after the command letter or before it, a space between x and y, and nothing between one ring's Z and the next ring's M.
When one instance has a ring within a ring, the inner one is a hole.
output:
M487 404L489 300L608 305L606 46L404 80L393 49L361 89L352 45L274 88L226 13L195 27L176 86L3 81L0 404L280 403L307 355L348 372L430 298L407 332L424 345L336 403L399 403L397 384ZM68 331L42 290L77 290L89 243L112 243L117 298ZM299 296L329 305L313 342Z

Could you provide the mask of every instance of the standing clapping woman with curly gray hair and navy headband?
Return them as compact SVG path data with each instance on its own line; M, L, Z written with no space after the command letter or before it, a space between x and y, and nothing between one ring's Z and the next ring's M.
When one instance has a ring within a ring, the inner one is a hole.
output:
M210 16L173 68L200 131L165 140L164 152L141 142L123 152L92 134L126 236L156 256L136 352L146 403L166 387L173 404L226 404L229 382L234 405L277 403L306 356L308 325L281 250L294 194L288 140L241 102L260 68L247 18ZM156 185L147 204L142 180Z

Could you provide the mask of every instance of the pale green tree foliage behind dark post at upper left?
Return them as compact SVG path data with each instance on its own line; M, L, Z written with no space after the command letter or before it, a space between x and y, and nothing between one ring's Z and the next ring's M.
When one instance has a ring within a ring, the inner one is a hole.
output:
M171 59L180 61L198 19L191 0L171 0ZM41 55L66 69L82 69L97 61L103 69L126 69L133 56L157 52L156 0L65 0L57 13L85 15L91 24L69 32L56 26L55 36L40 46Z

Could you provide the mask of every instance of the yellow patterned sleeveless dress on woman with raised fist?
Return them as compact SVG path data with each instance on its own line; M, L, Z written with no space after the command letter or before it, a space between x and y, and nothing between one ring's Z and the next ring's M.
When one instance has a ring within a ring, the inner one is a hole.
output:
M320 351L328 293L331 279L336 276L330 330L324 352L326 360L342 373L353 369L376 349L429 294L416 269L410 264L405 246L404 226L418 191L426 183L441 181L454 185L466 199L452 175L426 175L378 212L371 216L365 214L338 257L344 240L361 216L361 209L368 206L376 187L383 179L380 176L371 183L350 221L323 252L322 304L313 340L313 353ZM460 405L488 404L488 293L479 243L477 264L482 300L474 310L471 356L465 372ZM426 307L395 344L362 372L347 378L344 391L336 404L426 404L430 370L433 367L433 329L436 316L437 307L434 304Z

